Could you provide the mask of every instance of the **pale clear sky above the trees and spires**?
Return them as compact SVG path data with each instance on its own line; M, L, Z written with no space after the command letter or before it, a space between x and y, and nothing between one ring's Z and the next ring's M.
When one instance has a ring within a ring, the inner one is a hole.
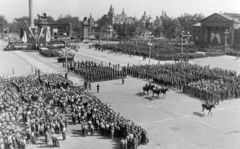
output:
M29 0L0 0L0 15L8 22L14 18L28 16ZM127 16L140 19L144 11L155 18L166 11L170 17L181 14L202 13L209 16L213 13L229 12L240 14L240 0L33 0L33 16L47 13L57 19L60 15L77 16L80 20L90 13L94 20L101 18L109 11L110 5L116 14L122 13L124 8Z

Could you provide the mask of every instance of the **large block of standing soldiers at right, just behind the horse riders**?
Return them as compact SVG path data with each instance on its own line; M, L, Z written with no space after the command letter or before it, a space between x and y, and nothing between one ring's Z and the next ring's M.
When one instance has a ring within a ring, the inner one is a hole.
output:
M240 97L240 75L236 71L209 68L196 64L174 63L158 65L133 65L127 74L182 90L205 101L218 103Z

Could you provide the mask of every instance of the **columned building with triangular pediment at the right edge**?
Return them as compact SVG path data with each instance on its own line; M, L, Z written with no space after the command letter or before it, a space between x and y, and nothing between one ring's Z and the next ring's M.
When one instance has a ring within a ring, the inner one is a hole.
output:
M214 13L192 26L195 43L240 44L240 14Z

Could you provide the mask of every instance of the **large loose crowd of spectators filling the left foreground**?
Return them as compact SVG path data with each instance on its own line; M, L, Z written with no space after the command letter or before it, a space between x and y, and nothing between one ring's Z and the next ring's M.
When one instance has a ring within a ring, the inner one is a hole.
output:
M39 137L44 137L46 144L52 140L53 146L60 146L57 134L66 140L69 127L65 113L71 113L73 124L81 124L84 136L99 131L112 139L123 138L121 146L148 143L147 132L141 126L61 74L0 78L0 87L1 149L25 149Z

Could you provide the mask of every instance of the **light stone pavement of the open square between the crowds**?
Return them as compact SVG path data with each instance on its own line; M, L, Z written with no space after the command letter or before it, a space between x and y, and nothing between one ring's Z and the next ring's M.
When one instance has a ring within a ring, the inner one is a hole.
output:
M21 53L21 51L18 51ZM62 64L58 64L56 58L45 58L36 52L22 52L19 57L16 52L3 52L0 50L0 75L12 73L15 68L17 74L31 74L31 67L42 67L43 70L64 73ZM26 58L23 60L22 58ZM35 62L32 63L32 59ZM75 60L103 61L108 65L119 63L121 66L131 64L147 64L141 57L129 57L127 55L108 54L107 52L88 49L87 44L81 44L76 53ZM39 63L39 64L34 64ZM151 63L157 64L156 60ZM171 62L170 62L171 63ZM196 59L191 63L221 67L240 72L240 60L231 56ZM9 67L7 67L9 66ZM70 74L78 84L83 80ZM109 103L115 111L141 125L148 132L150 142L141 145L139 149L237 149L240 148L240 100L227 100L220 102L213 109L213 116L200 113L201 101L181 93L175 89L167 92L164 99L142 94L142 87L147 80L127 77L125 84L121 80L99 82L100 93L96 93L96 85L92 84L92 93L100 97L103 102ZM206 112L207 113L207 112ZM102 138L101 136L76 136L74 130L79 130L79 125L71 126L67 141L60 141L62 149L77 148L119 148L119 140ZM74 129L74 130L73 130ZM59 136L61 138L61 136ZM29 145L27 148L52 148L38 141L37 145Z

